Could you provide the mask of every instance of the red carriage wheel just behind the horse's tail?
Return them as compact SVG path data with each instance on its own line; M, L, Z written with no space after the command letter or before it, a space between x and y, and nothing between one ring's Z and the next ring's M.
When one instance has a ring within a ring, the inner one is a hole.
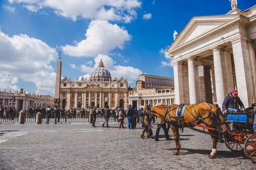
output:
M225 139L225 144L227 148L229 148L232 151L237 152L237 151L244 150L244 142L246 141L248 136L250 136L250 133L246 133L246 132L235 133L233 134L235 141L228 142L227 139Z

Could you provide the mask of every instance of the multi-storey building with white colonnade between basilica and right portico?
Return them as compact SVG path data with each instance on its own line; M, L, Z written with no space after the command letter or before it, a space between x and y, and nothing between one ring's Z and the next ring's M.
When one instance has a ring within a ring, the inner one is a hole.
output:
M135 88L128 88L129 104L144 107L150 103L172 105L175 103L174 78L142 74Z

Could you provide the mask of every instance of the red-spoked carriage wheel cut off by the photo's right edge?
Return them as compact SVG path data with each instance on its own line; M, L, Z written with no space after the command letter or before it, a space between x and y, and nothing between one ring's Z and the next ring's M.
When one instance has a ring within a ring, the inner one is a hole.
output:
M244 153L251 161L256 162L256 134L249 136L244 143Z

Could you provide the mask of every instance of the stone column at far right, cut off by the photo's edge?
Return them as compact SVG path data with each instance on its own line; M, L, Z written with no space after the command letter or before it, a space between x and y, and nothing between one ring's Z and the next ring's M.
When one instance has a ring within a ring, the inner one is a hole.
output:
M247 46L249 50L249 57L250 57L249 59L250 59L250 67L251 67L253 90L254 90L253 101L256 102L256 89L254 89L254 86L256 83L256 57L255 57L255 50L254 50L255 41L251 39L247 40Z

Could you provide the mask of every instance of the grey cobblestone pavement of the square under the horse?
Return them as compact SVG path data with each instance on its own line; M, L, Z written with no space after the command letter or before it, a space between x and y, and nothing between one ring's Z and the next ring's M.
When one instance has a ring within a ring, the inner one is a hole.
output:
M207 134L185 129L182 150L173 156L175 141L166 141L162 129L155 142L139 137L142 128L109 125L1 124L0 170L256 170L244 152L229 151L223 143L218 143L218 156L209 159L212 140ZM169 134L173 139L171 130Z

